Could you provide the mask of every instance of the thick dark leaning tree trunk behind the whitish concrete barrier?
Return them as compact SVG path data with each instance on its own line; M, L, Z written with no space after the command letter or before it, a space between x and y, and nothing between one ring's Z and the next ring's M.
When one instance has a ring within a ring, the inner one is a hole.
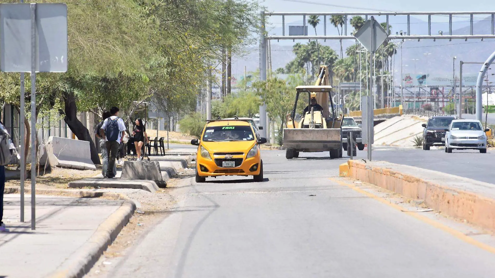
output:
M65 123L69 127L70 131L72 131L72 133L77 137L77 139L90 142L91 160L94 164L101 164L96 145L91 138L90 132L87 128L84 127L83 123L81 123L77 119L77 106L74 93L65 92L63 100L65 103Z

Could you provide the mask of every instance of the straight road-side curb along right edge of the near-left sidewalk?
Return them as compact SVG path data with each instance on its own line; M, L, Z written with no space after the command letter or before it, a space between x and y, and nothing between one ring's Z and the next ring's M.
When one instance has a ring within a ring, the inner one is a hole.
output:
M60 265L49 278L81 278L99 260L106 248L115 240L136 210L136 204L125 200L120 208L101 223L97 231L68 260Z

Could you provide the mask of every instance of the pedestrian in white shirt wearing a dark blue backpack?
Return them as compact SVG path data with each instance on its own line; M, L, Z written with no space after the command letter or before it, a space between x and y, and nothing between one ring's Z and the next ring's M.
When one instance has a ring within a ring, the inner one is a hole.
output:
M110 114L111 116L103 121L103 125L99 129L101 137L105 138L106 151L108 152L108 167L105 175L107 178L115 177L112 169L115 166L117 152L125 133L124 121L119 118L119 108L115 106L110 108Z

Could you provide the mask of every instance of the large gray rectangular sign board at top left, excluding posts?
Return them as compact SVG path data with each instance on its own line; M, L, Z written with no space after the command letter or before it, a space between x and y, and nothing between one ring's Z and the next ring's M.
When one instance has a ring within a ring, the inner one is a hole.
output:
M67 5L36 4L36 72L67 71ZM0 4L0 70L31 72L30 4Z

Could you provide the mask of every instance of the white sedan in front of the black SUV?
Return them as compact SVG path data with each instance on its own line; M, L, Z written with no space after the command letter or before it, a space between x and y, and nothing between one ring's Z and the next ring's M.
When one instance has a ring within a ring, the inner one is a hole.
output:
M453 120L445 135L445 152L452 149L479 149L487 152L487 136L478 120Z

